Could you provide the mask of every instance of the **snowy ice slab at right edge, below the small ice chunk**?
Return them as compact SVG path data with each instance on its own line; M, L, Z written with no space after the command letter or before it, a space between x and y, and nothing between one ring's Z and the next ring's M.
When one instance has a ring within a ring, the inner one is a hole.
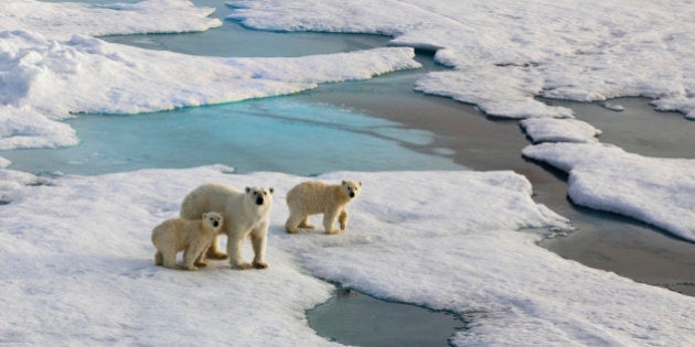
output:
M601 143L543 143L523 154L569 173L576 204L695 241L695 160L642 156Z

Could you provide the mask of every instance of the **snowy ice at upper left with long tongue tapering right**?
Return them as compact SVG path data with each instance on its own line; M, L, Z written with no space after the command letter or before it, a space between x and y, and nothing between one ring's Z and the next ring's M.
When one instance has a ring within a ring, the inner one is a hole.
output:
M239 101L420 66L407 47L223 58L148 51L86 35L172 31L130 24L152 17L160 20L147 21L194 30L190 22L209 21L204 15L210 10L192 8L188 1L87 7L14 0L2 7L10 20L0 21L0 150L75 145L79 140L74 129L61 120L77 113L138 113ZM31 9L38 11L29 15ZM50 28L62 23L65 13L74 14L75 21L61 30Z

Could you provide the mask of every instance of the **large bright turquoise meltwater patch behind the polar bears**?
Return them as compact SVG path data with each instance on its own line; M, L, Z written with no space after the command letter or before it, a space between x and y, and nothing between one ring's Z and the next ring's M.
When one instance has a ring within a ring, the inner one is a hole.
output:
M461 169L426 147L431 133L361 112L269 98L175 111L81 115L67 121L82 143L2 152L12 169L103 174L225 164L237 172L312 175L331 171Z

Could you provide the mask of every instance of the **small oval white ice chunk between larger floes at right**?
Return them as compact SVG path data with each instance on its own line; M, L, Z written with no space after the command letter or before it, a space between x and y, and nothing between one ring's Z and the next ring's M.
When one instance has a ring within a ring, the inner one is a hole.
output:
M534 143L597 142L600 130L576 119L527 118L518 122Z

